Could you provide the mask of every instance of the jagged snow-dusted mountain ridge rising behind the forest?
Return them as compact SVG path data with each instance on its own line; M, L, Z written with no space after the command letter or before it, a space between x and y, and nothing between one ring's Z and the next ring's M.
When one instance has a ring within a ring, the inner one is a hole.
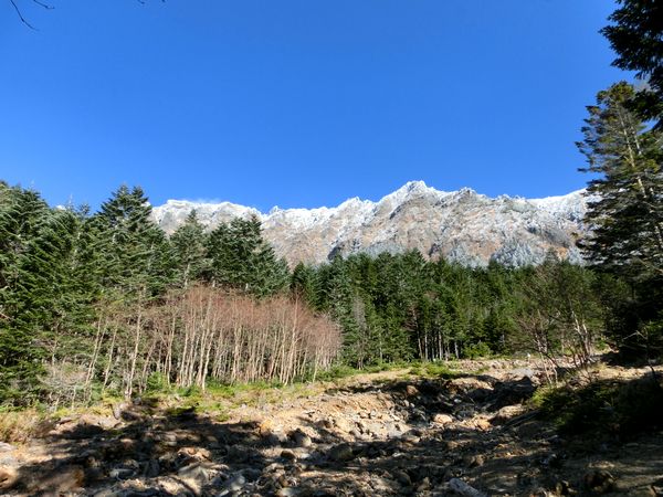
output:
M171 233L192 209L210 229L236 215L256 215L265 239L291 264L418 248L430 258L470 266L492 260L523 266L543 262L550 250L581 262L576 240L586 231L587 198L577 191L547 199L492 199L470 189L444 192L412 181L378 202L355 198L337 208L274 208L262 214L229 202L169 200L154 209L154 218Z

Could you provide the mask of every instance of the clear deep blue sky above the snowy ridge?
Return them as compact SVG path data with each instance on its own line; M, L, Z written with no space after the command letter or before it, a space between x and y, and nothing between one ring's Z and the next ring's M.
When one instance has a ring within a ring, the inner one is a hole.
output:
M441 190L564 194L628 77L603 0L0 0L0 178L96 208Z

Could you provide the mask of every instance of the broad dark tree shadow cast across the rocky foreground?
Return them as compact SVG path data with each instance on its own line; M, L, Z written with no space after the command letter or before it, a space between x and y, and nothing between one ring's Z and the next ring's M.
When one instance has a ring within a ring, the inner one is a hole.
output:
M220 422L192 410L165 413L148 404L125 410L117 426L113 420L70 420L39 441L48 450L44 457L35 454L32 463L9 475L13 486L8 495L440 496L450 495L444 485L452 478L490 495L541 489L582 495L588 453L591 461L623 458L619 436L560 436L555 423L532 413L502 416L503 408L535 392L527 377L499 381L466 374L456 380L329 390L329 395L385 395L390 412L375 419L362 412L368 417L357 416L352 435L323 417L302 415L301 426L312 434L306 443L264 432L255 422ZM438 423L439 414L453 421ZM404 429L371 433L370 422L398 424L390 415ZM663 465L663 451L655 456L661 438L633 438L622 478L655 475L656 464ZM643 451L646 443L651 447Z

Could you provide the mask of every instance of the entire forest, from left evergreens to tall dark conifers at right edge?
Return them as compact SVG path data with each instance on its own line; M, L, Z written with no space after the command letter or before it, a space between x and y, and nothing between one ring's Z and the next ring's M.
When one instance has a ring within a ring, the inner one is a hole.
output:
M663 352L661 3L618 0L620 82L587 107L587 265L470 268L418 252L288 268L257 219L170 236L140 188L98 212L0 181L0 403L85 402L208 381L313 378L334 363L488 353L583 366L600 342Z

